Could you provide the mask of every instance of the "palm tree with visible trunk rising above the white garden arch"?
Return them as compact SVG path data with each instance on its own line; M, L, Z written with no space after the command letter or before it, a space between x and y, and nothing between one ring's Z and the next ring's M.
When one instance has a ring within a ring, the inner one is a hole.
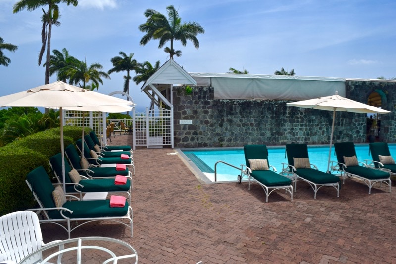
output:
M136 59L132 59L133 53L130 53L129 56L127 56L127 54L124 52L119 52L118 54L120 54L120 56L115 56L111 58L113 68L111 68L107 73L111 74L113 72L126 71L127 75L124 76L124 93L127 93L129 95L129 81L131 80L130 72L131 70L135 70L138 62L136 61Z

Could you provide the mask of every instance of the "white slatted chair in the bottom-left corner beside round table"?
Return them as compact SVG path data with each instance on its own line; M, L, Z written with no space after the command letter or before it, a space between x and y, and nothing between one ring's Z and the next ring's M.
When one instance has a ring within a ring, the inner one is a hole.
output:
M32 211L16 211L0 217L0 262L19 263L36 250L52 244L43 242L39 217ZM59 240L60 241L60 240ZM58 258L58 263L61 256ZM29 263L42 260L38 253L30 257Z

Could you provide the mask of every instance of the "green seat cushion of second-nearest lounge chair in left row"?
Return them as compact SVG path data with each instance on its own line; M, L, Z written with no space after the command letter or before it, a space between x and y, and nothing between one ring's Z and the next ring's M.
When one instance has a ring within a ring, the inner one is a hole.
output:
M78 186L77 190L83 193L89 192L127 192L131 187L131 181L127 180L126 184L116 185L114 184L114 179L84 179L79 182L79 184L84 187ZM67 186L66 192L75 192L74 186Z

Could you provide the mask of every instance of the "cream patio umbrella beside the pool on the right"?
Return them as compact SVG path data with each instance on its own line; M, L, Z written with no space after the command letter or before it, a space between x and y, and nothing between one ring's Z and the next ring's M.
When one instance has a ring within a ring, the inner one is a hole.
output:
M352 113L379 113L385 114L390 113L390 111L383 110L374 106L369 106L342 96L338 95L336 91L335 95L319 97L309 100L297 101L293 103L287 103L288 106L296 106L301 108L318 109L325 111L333 111L333 124L331 127L330 136L330 148L329 148L329 159L327 161L327 172L329 172L330 167L330 155L331 146L333 144L333 133L334 133L334 120L336 117L336 112L352 112Z

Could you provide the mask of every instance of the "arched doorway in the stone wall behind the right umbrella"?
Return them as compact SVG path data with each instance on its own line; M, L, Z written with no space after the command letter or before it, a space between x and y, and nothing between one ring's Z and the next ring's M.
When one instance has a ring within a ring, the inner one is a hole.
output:
M386 95L381 89L376 89L367 99L367 105L382 107L386 103ZM379 114L367 115L367 142L375 142L379 139L381 133L381 118Z

